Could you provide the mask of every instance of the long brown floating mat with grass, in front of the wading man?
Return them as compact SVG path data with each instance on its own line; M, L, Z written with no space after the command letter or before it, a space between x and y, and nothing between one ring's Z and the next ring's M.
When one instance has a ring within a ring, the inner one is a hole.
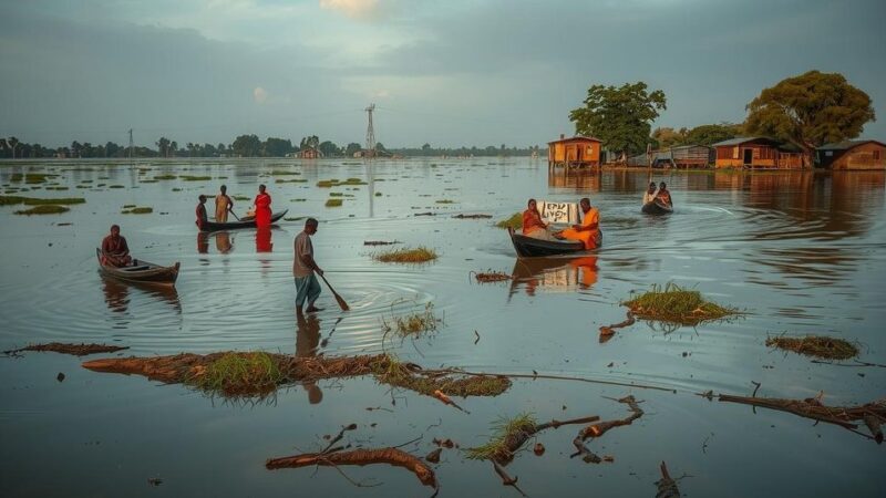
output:
M216 365L222 359L225 360ZM138 374L154 381L183 383L210 394L236 397L267 396L271 384L279 387L359 375L374 375L379 382L429 396L433 396L434 391L453 396L496 396L511 386L511 381L504 376L424 371L419 365L402 363L387 354L293 357L256 352L182 353L93 360L83 363L83 367L96 372ZM202 378L207 375L207 380Z

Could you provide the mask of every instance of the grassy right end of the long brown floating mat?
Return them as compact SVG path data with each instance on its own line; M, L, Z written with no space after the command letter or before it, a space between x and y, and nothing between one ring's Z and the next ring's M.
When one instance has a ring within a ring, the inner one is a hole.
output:
M511 381L507 377L491 375L453 377L434 373L423 374L391 355L383 355L381 360L370 363L369 367L379 382L408 388L426 396L433 396L436 391L449 396L497 396L511 387Z

